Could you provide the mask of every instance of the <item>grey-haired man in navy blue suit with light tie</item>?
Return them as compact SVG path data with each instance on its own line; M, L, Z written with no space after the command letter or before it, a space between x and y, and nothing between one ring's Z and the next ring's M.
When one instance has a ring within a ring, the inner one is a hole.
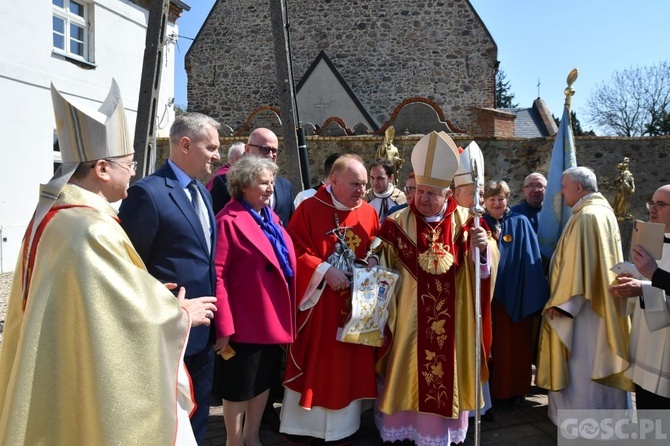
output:
M178 116L170 128L170 158L131 186L119 209L121 225L149 273L185 287L187 298L214 296L216 289L212 199L196 178L211 173L220 158L218 128L218 122L200 113ZM184 357L198 405L191 416L198 444L209 416L212 344L210 327L192 328Z

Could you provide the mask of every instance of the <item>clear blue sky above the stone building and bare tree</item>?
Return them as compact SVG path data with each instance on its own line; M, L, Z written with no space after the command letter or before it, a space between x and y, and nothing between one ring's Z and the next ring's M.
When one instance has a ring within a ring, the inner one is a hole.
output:
M288 1L289 8L291 0ZM178 20L175 103L187 105L184 55L214 0L186 0L191 10ZM560 116L565 79L579 78L572 109L585 130L586 101L615 71L670 59L668 0L470 0L498 45L498 60L514 101L530 107L540 96ZM595 129L597 133L597 129Z

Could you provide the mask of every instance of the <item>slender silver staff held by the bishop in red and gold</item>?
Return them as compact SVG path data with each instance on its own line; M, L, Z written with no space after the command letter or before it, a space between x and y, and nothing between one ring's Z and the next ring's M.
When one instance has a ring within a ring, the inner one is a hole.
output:
M483 167L483 166L482 166ZM484 209L479 205L479 175L477 160L472 159L472 182L475 185L473 205L470 209L474 214L475 229L479 228L479 219ZM482 409L482 287L481 287L481 260L479 247L475 246L475 446L481 442Z

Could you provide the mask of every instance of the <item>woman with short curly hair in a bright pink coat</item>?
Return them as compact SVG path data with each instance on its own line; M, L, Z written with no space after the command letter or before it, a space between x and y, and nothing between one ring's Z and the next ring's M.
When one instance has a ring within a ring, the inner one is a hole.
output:
M268 206L276 172L265 158L239 160L227 174L233 199L216 216L214 351L228 358L220 361L216 383L228 446L261 445L261 418L279 374L281 346L296 334L295 251Z

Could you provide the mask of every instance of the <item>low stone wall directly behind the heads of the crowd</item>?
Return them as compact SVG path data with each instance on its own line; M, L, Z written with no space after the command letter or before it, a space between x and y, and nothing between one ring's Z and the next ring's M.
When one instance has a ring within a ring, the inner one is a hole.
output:
M422 135L398 136L393 144L398 148L405 163L400 173L401 185L411 171L411 153L414 144ZM221 138L222 163L225 154L233 142L246 142L244 138ZM456 144L465 147L471 138L454 137ZM376 156L377 147L384 142L383 136L343 136L343 137L308 137L310 174L312 184L322 179L323 160L333 152L356 153L366 163ZM523 194L521 186L525 176L533 171L547 174L554 138L487 138L477 139L482 149L485 162L486 180L505 180L511 189L510 204L516 204ZM624 157L630 158L629 170L635 177L636 191L632 197L632 213L635 218L646 220L648 213L645 202L651 200L654 191L661 185L670 183L670 137L654 138L615 138L615 137L577 137L575 140L577 163L590 167L596 173L600 192L613 203L614 191L612 182L617 176L617 164ZM280 139L281 147L281 139ZM164 163L168 154L166 139L158 141L158 165ZM278 158L279 171L282 170L283 157ZM218 166L217 166L218 167ZM203 178L206 181L208 178ZM293 184L299 179L289 178ZM294 186L295 187L295 186Z

